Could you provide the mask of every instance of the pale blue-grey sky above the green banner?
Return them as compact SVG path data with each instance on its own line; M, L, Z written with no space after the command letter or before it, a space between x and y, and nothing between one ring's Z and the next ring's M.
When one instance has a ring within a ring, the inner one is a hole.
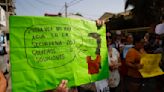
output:
M125 0L15 0L16 14L25 16L44 16L45 13L64 14L65 2L68 14L80 13L89 19L98 19L105 12L124 12Z

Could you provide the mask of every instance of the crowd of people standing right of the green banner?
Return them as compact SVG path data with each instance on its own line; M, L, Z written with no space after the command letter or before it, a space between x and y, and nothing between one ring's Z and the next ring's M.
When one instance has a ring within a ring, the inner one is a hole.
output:
M113 35L107 32L107 47L110 76L105 81L109 90L97 92L164 92L164 75L143 78L139 72L144 66L140 63L143 54L162 54L159 66L164 70L163 34L157 34L155 30L145 34L124 34L117 31ZM93 83L87 86L89 91L79 92L95 92L97 87L92 87Z

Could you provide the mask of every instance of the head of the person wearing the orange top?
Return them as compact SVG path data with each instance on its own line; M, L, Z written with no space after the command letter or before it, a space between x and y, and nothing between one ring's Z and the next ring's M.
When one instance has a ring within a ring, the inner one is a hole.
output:
M137 34L134 36L134 45L138 50L144 48L144 39L141 35Z

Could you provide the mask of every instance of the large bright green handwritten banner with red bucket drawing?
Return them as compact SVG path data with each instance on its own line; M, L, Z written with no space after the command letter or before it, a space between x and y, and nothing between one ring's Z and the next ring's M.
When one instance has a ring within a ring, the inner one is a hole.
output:
M105 26L61 17L10 17L13 92L79 86L108 78Z

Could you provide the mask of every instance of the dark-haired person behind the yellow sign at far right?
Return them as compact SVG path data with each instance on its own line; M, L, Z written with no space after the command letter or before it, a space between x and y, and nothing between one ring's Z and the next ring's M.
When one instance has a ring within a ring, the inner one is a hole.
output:
M162 40L160 35L151 33L148 43L144 46L145 51L148 54L162 54L160 67L164 70L164 52L163 52L163 46L162 46ZM155 62L155 61L154 61ZM151 89L151 92L154 92L154 90L157 90L156 92L163 92L164 89L162 88L163 81L164 81L164 75L155 76L151 78L145 78L147 82L145 84L151 85L149 89ZM156 88L157 87L157 88ZM148 87L147 87L148 88Z

